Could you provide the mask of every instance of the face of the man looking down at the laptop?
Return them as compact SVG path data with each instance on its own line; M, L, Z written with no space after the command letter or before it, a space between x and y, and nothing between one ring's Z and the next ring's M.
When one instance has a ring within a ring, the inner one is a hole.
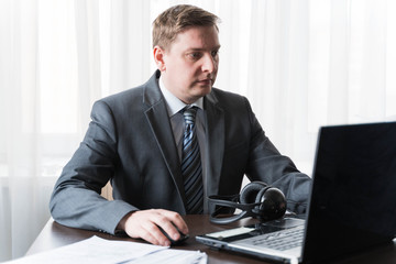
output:
M166 88L187 105L208 95L219 66L219 35L215 26L189 28L154 58Z

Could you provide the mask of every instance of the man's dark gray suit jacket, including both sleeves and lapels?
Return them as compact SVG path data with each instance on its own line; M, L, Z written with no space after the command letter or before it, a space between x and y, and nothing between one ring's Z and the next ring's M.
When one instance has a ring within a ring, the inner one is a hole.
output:
M86 136L51 198L56 221L114 233L130 211L163 208L186 213L179 157L158 77L156 72L146 84L94 105ZM246 175L280 188L297 202L289 209L304 210L309 177L265 136L246 98L212 88L204 108L207 195L238 194ZM109 179L113 201L99 195Z

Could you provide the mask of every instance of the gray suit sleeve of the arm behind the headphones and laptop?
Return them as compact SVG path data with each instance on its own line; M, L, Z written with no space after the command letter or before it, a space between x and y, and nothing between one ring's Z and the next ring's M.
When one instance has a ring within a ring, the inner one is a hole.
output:
M252 128L248 178L279 188L287 199L287 209L304 213L310 193L310 177L300 173L289 157L278 152L265 135L248 100L246 106Z

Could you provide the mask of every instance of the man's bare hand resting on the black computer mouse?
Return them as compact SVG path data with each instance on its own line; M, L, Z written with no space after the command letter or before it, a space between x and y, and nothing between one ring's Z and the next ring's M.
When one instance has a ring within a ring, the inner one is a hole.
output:
M128 213L117 229L123 230L133 239L143 239L155 245L170 245L170 241L160 231L161 227L177 241L182 233L188 234L188 227L179 213L164 209L150 209Z

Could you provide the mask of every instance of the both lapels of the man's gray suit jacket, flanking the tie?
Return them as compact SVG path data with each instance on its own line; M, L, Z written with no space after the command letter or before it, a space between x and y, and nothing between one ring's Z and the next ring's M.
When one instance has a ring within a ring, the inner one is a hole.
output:
M178 188L179 196L186 205L180 162L169 118L167 116L166 102L160 90L157 78L160 78L160 72L156 72L144 87L143 102L147 106L145 116L158 144L162 156ZM221 166L224 155L224 112L221 107L218 106L218 100L213 91L205 97L204 103L207 141L207 166L205 168L207 182L206 195L210 196L218 194L219 190ZM205 205L207 205L207 198Z

